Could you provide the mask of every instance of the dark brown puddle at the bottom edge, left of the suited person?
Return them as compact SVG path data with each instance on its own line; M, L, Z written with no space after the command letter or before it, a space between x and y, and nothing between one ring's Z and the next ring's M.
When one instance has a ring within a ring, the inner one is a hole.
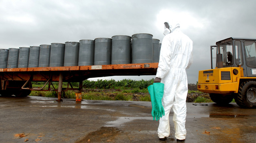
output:
M121 133L122 131L119 130L119 128L101 127L99 130L90 132L83 139L75 143L87 143L87 142L106 143L106 142L114 141L115 137Z

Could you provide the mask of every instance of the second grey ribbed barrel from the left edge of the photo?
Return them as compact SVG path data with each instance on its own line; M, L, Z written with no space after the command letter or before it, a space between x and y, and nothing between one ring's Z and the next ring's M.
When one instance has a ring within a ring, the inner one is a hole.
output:
M19 51L18 48L9 49L7 68L18 68Z

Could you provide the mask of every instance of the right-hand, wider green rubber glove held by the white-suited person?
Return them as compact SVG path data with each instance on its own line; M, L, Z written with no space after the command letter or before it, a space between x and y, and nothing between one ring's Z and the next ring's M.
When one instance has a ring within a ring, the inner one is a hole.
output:
M160 119L160 117L165 115L163 105L162 105L164 84L163 83L153 83L153 86L154 86L154 97L155 97L156 103L157 103L157 110L159 111L157 117Z

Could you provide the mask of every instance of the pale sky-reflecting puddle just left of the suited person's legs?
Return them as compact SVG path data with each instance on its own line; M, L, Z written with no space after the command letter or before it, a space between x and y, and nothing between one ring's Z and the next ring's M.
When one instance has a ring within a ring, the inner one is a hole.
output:
M153 117L119 117L115 121L107 122L106 127L119 127L122 124L131 122L133 120L153 120Z

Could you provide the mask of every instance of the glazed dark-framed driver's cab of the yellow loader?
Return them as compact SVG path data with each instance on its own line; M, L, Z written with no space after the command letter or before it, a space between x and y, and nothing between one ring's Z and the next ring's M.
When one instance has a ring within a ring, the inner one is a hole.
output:
M256 39L231 37L211 46L211 68L225 67L242 67L244 77L256 77Z

